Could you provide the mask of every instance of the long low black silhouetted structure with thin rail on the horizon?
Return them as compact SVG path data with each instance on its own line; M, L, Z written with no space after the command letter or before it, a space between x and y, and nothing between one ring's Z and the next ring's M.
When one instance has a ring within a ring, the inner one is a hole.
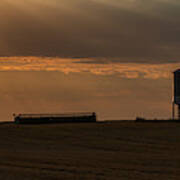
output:
M18 114L14 115L14 121L16 124L96 122L96 113Z

